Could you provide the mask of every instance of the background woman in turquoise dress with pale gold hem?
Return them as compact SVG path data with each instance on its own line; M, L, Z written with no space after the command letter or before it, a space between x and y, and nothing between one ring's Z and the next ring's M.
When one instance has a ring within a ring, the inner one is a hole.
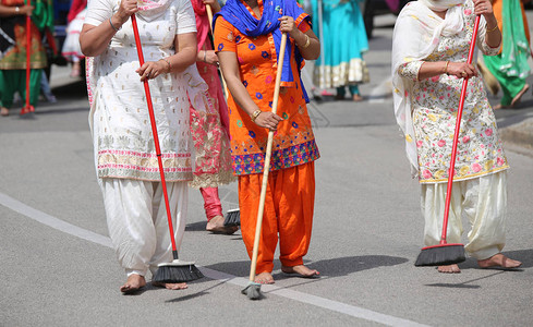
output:
M315 62L315 85L323 89L337 88L338 100L344 99L348 86L352 100L361 101L363 97L359 85L370 81L368 70L363 61L363 53L368 50L368 39L359 2L324 0L323 16L319 17L319 2L312 1L313 29L318 33L322 28L324 34L324 39L320 39L324 53Z

